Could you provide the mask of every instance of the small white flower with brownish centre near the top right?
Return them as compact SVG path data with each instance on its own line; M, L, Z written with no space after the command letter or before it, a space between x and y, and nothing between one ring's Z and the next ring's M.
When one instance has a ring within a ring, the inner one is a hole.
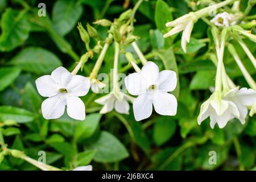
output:
M226 12L217 14L210 22L214 23L216 26L229 27L232 24L233 16Z

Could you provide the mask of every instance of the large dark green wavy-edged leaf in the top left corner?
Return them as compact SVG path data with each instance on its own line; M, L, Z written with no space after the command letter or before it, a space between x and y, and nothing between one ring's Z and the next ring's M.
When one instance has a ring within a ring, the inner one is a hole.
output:
M0 50L11 51L22 45L28 38L30 32L30 24L24 19L26 10L18 11L6 9L2 15L0 36Z

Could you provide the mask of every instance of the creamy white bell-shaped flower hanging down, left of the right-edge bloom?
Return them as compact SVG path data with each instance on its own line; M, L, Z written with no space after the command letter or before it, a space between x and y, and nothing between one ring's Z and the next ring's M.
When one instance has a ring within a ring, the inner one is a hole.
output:
M210 127L213 129L216 123L221 129L226 126L230 119L240 118L240 112L232 101L223 100L218 92L214 92L210 98L201 105L200 114L197 118L199 125L210 117Z

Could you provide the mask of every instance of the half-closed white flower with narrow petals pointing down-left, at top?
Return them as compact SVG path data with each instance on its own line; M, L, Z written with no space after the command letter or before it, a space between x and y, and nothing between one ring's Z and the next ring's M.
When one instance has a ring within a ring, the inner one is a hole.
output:
M191 12L172 22L166 23L167 27L174 27L172 30L164 34L164 38L172 36L183 31L181 36L181 48L184 52L187 52L187 43L190 41L191 32L193 30L194 23L197 22L198 18L195 13Z

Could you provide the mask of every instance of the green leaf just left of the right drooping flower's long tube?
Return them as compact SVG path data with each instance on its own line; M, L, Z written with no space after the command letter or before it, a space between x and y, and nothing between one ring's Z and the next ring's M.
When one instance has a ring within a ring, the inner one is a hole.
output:
M191 90L200 90L200 89L209 89L210 86L214 86L214 71L198 71L196 75L193 76L189 89Z

